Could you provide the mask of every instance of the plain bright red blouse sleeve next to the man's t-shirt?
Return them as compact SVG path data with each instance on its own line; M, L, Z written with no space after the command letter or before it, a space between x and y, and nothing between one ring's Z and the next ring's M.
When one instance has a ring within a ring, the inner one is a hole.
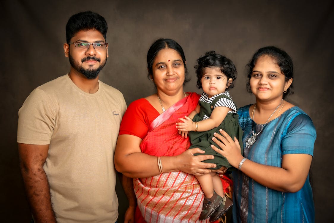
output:
M134 135L143 139L148 132L148 118L145 106L141 103L145 99L132 102L122 118L119 135Z

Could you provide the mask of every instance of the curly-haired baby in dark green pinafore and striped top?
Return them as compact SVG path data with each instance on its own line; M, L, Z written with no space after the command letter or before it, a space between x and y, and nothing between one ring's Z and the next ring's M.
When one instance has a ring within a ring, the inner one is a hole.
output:
M204 92L195 110L188 116L179 118L182 122L176 123L176 127L182 136L187 136L189 132L192 143L190 148L198 147L205 151L204 154L214 155L214 159L203 161L217 165L211 169L225 167L220 173L232 171L234 169L227 159L216 153L211 144L216 145L212 141L213 133L219 133L219 129L223 129L232 139L235 136L239 140L242 152L242 129L238 123L237 108L227 90L233 87L232 82L236 79L235 66L226 57L216 54L215 51L208 51L197 60L195 69L197 86ZM197 153L200 154L202 153ZM205 194L199 220L211 217L210 222L215 221L232 207L233 202L224 195L222 183L216 172L196 178Z

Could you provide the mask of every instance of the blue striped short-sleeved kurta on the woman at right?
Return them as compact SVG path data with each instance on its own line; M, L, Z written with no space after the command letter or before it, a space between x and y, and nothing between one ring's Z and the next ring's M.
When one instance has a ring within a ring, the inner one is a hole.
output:
M253 121L249 117L249 107L241 107L238 111L239 124L243 130L244 157L257 163L281 167L282 155L304 153L313 156L315 127L309 116L296 106L270 121L256 142L246 147L245 139L251 135ZM261 129L263 125L254 123L255 126ZM233 223L314 222L309 176L300 191L286 193L264 187L241 171L232 174Z

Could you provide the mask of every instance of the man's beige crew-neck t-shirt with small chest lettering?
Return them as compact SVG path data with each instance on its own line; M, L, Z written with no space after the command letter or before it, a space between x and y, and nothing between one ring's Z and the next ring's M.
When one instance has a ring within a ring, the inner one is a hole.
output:
M89 94L64 75L31 92L19 110L17 142L49 144L43 166L59 223L115 222L114 151L124 97L99 81Z

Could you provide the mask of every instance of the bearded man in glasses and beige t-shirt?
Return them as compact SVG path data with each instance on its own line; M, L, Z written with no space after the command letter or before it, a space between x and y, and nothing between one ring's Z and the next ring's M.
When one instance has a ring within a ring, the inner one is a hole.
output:
M106 20L80 12L66 25L70 72L37 87L19 110L20 166L38 222L116 222L114 150L126 103L99 81Z

